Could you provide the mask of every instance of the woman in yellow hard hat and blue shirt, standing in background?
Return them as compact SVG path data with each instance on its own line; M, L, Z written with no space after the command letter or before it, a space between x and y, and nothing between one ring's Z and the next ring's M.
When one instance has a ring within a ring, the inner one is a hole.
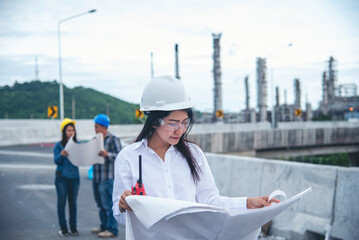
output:
M78 235L76 228L76 202L77 195L80 187L80 174L78 167L72 165L68 159L68 152L64 150L68 140L73 136L73 140L76 140L75 121L69 118L65 118L60 125L62 132L62 139L57 142L54 147L54 162L57 165L55 186L57 193L57 216L59 219L60 231L59 235L67 237L70 235L67 230L65 206L66 199L69 202L69 214L70 214L70 230L73 236Z

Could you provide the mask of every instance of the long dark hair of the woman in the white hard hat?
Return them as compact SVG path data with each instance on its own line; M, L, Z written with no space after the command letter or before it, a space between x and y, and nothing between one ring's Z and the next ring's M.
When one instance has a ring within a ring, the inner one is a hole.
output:
M196 182L199 180L199 171L200 168L197 164L197 161L195 160L195 158L193 157L188 143L193 143L192 141L189 141L187 139L187 135L188 133L191 131L191 128L193 126L194 123L194 118L193 118L193 111L191 108L188 109L183 109L183 111L186 111L188 114L188 118L190 120L190 125L187 128L187 131L181 136L181 138L179 139L178 143L175 145L175 147L177 148L177 150L186 158L187 163L189 168L191 169L191 175L193 180ZM165 118L168 115L170 115L172 111L151 111L151 112L147 112L147 119L146 122L140 132L140 134L137 136L135 142L141 141L144 138L148 138L150 137L153 132L154 132L154 128L153 126L159 126L159 119Z

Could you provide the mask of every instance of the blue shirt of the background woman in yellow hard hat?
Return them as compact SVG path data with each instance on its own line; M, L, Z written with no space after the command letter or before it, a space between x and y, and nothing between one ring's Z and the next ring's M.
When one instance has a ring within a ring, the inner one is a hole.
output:
M60 171L63 177L66 178L79 178L79 168L74 166L68 157L61 156L61 151L64 147L61 142L57 142L54 147L54 162L57 165L56 171Z

